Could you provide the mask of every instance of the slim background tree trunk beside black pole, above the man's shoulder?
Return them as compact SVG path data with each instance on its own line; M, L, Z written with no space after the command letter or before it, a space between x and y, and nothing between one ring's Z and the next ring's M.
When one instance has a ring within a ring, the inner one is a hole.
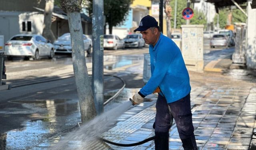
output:
M166 32L167 36L171 38L172 31L171 31L171 12L172 8L170 6L170 0L165 0L164 1L164 12L165 12L165 19L166 19Z

